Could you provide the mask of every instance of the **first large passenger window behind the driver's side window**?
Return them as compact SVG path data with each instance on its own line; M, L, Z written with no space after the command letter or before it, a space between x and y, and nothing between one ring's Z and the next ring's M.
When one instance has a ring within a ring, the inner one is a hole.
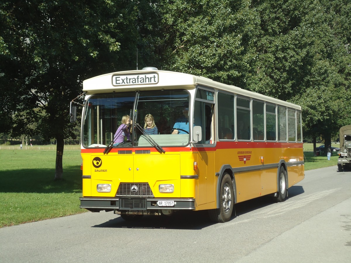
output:
M217 95L218 107L218 138L234 139L234 95L220 93Z

